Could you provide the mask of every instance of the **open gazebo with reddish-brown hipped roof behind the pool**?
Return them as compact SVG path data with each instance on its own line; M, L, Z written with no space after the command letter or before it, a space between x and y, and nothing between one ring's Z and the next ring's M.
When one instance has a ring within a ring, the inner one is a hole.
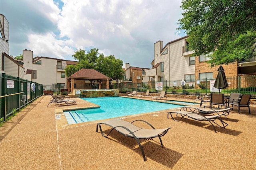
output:
M109 89L108 76L88 68L82 68L67 78L68 92L74 89Z

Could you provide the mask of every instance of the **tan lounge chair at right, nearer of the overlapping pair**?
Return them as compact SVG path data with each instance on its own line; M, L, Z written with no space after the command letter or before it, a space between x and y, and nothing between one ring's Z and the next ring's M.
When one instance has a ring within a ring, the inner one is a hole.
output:
M178 114L181 115L181 118L176 120L174 119L174 117L172 116L173 113L176 113L176 116L178 116ZM226 122L224 122L222 120L222 118L220 117L221 115L224 115L225 113L220 113L218 115L210 115L210 116L203 116L199 113L194 113L194 112L190 112L190 111L181 111L181 110L176 110L176 111L170 111L168 112L167 114L167 118L169 119L169 115L171 115L172 119L174 119L175 121L179 121L181 119L194 119L194 120L197 120L197 121L208 121L211 123L212 127L214 128L214 131L215 133L216 132L216 129L214 127L214 125L217 125L218 127L222 127L225 129L225 127L228 125ZM222 125L219 125L218 123L216 123L216 120L219 120ZM213 125L214 124L214 125Z

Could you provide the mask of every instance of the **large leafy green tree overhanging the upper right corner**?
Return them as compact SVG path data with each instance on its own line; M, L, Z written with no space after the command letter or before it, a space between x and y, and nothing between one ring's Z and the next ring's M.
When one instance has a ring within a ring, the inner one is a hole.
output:
M194 55L211 66L256 57L256 0L182 0L180 27Z

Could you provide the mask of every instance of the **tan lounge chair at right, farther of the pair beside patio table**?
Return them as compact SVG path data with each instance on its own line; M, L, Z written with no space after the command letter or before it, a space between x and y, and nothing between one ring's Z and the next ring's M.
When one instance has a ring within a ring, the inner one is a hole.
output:
M230 111L232 110L232 107L229 108L225 108L225 109L219 109L219 108L208 108L208 107L197 107L197 106L184 106L184 107L180 107L180 110L184 110L184 111L191 111L194 113L203 113L203 114L218 114L219 112L225 113L225 117L227 117L227 115L229 115Z

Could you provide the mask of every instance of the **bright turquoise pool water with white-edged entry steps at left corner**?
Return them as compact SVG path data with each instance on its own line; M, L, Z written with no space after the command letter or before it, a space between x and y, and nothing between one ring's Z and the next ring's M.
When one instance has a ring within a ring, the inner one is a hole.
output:
M164 109L180 107L180 105L151 102L134 98L102 97L83 98L84 100L99 105L100 108L65 111L68 124L87 121L108 119L138 113L147 113Z

